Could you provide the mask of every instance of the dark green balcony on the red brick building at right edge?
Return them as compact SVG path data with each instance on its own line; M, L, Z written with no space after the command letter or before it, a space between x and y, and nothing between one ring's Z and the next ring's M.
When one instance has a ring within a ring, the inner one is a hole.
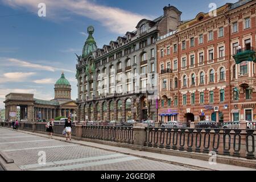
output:
M255 49L253 47L242 48L237 51L237 54L233 58L236 64L240 64L243 61L253 61L256 63Z

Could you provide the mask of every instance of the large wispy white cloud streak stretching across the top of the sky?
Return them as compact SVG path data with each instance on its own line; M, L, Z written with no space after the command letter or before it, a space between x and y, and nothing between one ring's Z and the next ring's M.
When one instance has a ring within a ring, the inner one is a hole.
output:
M26 7L28 10L33 9L37 12L39 10L37 6L42 0L3 0L3 2L11 7ZM89 0L44 0L44 3L46 3L46 16L49 18L56 18L56 11L77 14L97 20L103 26L108 27L110 31L118 34L134 30L139 20L148 18L145 15L136 14L117 7L98 5ZM60 15L60 13L58 14ZM64 15L62 14L61 16Z

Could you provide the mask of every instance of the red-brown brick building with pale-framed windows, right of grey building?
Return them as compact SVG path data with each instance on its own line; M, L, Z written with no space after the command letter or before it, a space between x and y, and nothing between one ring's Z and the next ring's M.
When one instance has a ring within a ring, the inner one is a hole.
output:
M227 3L158 38L160 121L256 120L255 4Z

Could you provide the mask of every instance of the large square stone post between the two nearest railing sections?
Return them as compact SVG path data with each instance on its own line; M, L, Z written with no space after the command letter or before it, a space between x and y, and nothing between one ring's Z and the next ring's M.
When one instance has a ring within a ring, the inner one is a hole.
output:
M144 143L146 143L146 127L147 124L142 123L138 123L136 126L133 127L133 139L135 145L144 146Z

